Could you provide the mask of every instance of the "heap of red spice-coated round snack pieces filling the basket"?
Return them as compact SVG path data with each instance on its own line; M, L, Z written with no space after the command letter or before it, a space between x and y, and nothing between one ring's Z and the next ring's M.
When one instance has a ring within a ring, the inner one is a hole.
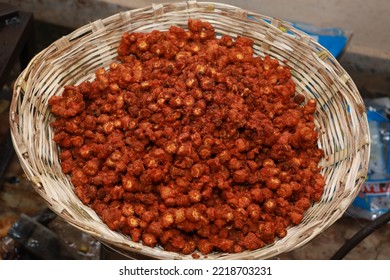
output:
M251 39L217 39L200 20L188 29L125 33L117 62L49 100L61 166L135 242L255 250L321 198L316 101Z

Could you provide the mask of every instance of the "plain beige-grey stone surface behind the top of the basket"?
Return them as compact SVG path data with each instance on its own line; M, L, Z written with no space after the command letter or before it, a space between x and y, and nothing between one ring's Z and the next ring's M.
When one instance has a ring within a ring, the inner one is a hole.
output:
M152 3L183 0L3 0L22 10L33 12L39 20L80 27L96 19L123 10L142 8ZM200 0L199 0L200 2ZM353 33L350 51L390 59L390 2L383 0L220 0L240 8L287 21L304 22L319 27L337 27Z

